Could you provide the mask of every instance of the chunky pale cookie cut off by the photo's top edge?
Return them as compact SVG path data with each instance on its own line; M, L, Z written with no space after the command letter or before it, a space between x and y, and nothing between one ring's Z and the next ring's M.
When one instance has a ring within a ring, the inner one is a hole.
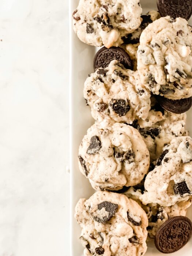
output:
M86 44L119 46L122 37L138 29L141 14L139 0L80 0L73 13L74 31Z

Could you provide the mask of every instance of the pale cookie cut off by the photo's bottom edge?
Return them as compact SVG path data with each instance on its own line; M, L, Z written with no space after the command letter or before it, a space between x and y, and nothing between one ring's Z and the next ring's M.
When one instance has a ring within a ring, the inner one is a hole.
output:
M147 215L132 199L112 192L96 192L80 199L75 218L82 228L84 255L144 255Z

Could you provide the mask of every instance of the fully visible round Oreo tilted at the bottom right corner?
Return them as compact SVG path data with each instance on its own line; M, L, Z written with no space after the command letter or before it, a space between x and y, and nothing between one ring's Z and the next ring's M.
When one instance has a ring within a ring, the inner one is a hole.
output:
M191 238L192 223L184 216L168 219L158 229L155 236L155 246L162 253L172 253L180 250Z

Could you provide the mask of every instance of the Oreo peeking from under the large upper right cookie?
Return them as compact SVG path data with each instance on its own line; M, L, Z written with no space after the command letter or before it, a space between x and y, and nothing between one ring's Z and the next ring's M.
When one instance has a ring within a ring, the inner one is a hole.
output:
M157 99L158 103L162 106L163 109L174 114L185 113L192 106L192 97L187 99L173 100L158 95L155 98Z

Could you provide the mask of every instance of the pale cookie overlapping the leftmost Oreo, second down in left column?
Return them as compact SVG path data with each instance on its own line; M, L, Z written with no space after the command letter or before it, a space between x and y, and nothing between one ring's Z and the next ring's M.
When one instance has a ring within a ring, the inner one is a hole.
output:
M140 82L138 72L125 69L117 60L88 76L84 98L95 120L110 118L119 123L146 119L151 103L150 91Z

